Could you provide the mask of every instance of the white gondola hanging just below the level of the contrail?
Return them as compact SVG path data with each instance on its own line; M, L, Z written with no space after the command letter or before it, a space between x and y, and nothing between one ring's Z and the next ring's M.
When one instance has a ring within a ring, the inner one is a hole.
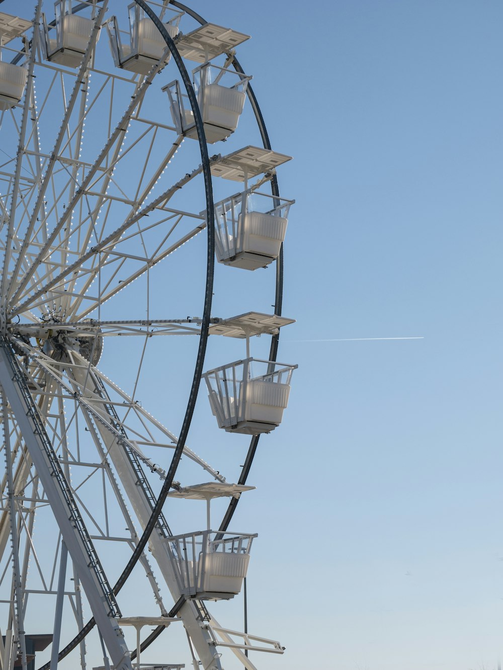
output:
M204 373L218 427L230 433L269 433L281 423L297 365L245 358ZM263 374L254 375L258 371Z

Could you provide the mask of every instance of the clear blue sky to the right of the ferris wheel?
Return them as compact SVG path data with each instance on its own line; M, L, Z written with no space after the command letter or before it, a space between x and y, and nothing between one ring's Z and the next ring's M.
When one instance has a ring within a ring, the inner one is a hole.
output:
M297 324L279 360L299 369L235 523L259 533L249 629L287 651L253 660L492 669L503 655L503 5L191 6L253 36L238 58L273 149L294 157L279 184L297 201L283 307ZM21 13L13 0L2 9ZM257 309L241 293L226 314L219 277L217 316ZM263 311L268 299L257 295ZM316 341L398 336L423 339ZM192 345L177 346L166 355ZM174 393L166 411L182 405Z

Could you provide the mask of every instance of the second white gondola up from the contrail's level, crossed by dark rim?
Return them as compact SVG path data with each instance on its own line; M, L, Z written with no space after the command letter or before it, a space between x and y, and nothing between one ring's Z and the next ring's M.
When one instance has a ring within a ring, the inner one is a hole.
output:
M251 77L210 63L196 68L192 74L206 141L214 144L232 135L238 127ZM169 95L171 117L177 131L198 139L192 108L179 82L171 82L163 90Z

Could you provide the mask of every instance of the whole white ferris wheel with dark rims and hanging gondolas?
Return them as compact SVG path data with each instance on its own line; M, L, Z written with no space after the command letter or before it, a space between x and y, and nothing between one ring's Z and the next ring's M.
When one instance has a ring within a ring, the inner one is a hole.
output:
M224 608L257 537L230 521L296 368L277 360L290 157L248 38L174 1L0 13L1 670L283 653ZM186 657L141 661L161 634Z

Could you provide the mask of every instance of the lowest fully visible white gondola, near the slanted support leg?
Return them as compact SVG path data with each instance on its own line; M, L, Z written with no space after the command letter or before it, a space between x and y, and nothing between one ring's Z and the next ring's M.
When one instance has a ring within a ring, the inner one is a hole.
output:
M242 587L255 535L211 530L167 537L180 594L199 600L234 598Z

